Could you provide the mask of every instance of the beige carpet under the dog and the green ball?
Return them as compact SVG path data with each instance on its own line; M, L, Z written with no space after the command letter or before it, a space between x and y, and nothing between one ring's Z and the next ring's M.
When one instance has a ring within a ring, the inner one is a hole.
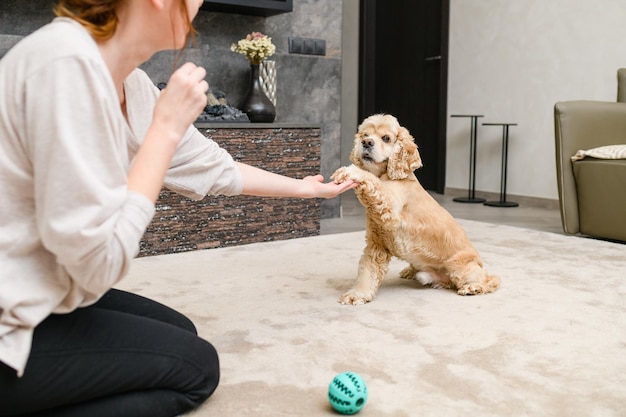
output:
M364 233L137 259L120 288L189 315L221 353L194 417L336 415L336 373L365 379L359 416L625 416L626 245L461 220L494 294L387 281L338 297Z

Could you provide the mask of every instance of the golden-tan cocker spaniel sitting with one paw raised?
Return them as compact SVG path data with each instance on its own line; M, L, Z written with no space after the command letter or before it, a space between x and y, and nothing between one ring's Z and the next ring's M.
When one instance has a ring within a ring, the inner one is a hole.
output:
M353 180L366 210L366 247L353 287L342 304L371 301L393 256L409 263L400 276L460 295L495 291L500 279L483 262L454 218L424 190L414 170L422 166L409 131L391 115L361 123L350 154L353 165L339 168L337 183Z

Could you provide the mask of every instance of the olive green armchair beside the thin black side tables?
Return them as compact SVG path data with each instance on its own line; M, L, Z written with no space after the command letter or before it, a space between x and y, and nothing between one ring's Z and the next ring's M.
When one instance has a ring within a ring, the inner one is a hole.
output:
M563 230L626 242L626 159L571 159L579 150L626 145L626 69L618 71L618 102L556 103L554 124Z

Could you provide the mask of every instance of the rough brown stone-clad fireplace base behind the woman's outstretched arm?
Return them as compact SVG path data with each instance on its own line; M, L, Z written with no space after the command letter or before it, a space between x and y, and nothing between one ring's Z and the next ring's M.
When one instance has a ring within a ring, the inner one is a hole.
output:
M287 123L197 123L233 158L295 178L320 172L320 128ZM195 201L161 190L139 256L314 236L320 200L207 196Z

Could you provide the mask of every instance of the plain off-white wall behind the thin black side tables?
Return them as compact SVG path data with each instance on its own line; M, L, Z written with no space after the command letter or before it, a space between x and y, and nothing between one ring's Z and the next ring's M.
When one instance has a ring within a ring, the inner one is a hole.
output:
M448 116L513 122L507 193L557 199L553 107L615 101L624 0L450 0ZM469 119L448 118L446 187L467 189ZM502 130L478 127L476 189L499 192Z

